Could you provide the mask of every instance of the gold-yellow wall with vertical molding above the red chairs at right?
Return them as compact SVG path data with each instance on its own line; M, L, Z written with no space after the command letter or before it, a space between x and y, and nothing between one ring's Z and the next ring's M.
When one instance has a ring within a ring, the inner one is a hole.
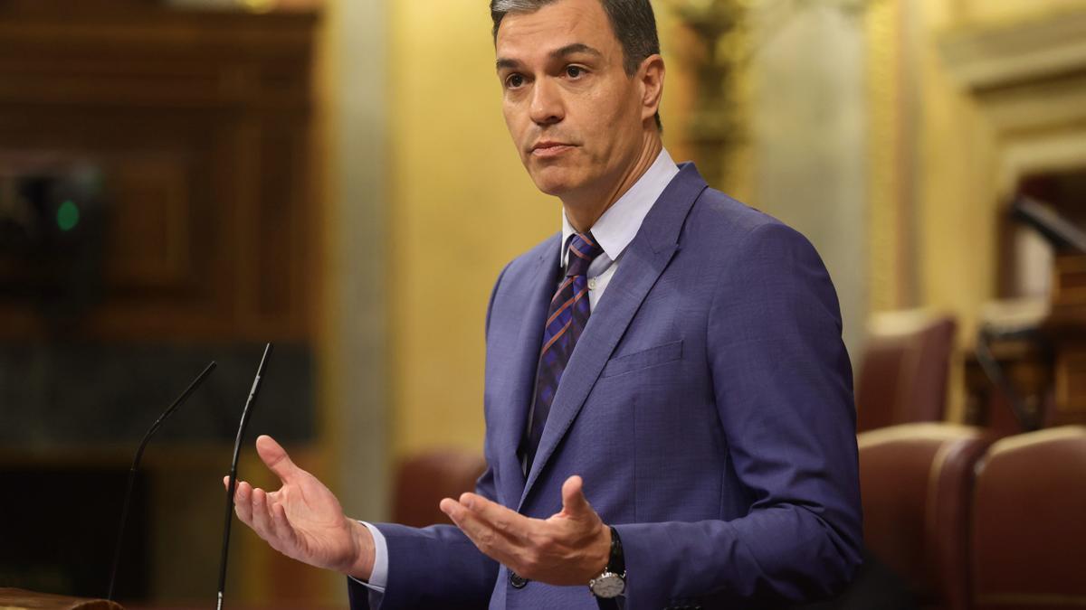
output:
M982 107L985 93L971 90L961 69L956 72L948 40L1083 11L1083 0L873 4L866 18L872 312L951 313L959 350L971 347L985 303L998 296L998 219L1021 178L1011 168L1013 142L1053 127L1037 127L1044 111L1015 106L1018 93L1000 93L1006 100L997 124ZM952 361L960 368L960 358ZM949 385L948 418L960 420L960 370Z

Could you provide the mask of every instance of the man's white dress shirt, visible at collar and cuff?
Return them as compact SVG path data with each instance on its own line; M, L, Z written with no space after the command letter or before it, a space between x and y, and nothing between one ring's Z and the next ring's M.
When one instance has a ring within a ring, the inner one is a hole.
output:
M614 205L608 207L590 229L596 243L604 250L603 254L595 257L589 265L589 307L591 309L595 309L599 297L603 296L604 290L607 289L611 277L615 276L615 270L618 269L622 253L637 234L648 211L652 209L653 204L656 203L660 193L677 174L679 174L679 167L671 160L671 155L668 154L667 150L660 149L660 154L656 156L656 161L641 178L637 178L630 190L626 191ZM569 224L569 219L563 211L563 247L573 232L576 232L573 226ZM561 256L558 257L558 265L563 269L566 268L567 258L569 258L569 251L563 250ZM377 528L365 521L362 523L374 535L374 572L369 576L369 582L355 580L369 587L369 607L377 609L380 607L384 586L389 582L389 546Z

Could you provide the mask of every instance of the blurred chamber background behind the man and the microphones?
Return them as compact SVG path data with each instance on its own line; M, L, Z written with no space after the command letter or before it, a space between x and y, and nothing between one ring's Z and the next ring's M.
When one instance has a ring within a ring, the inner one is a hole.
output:
M871 590L1086 605L1086 0L653 4L671 155L837 288ZM248 437L350 514L426 524L470 484L490 289L560 226L490 27L485 0L0 0L0 587L105 594L135 446L214 359L117 583L210 605L266 341ZM242 526L230 570L238 606L345 605Z

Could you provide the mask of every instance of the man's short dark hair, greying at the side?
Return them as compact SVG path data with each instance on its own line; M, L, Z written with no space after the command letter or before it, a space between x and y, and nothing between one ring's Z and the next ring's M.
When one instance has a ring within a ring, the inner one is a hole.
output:
M494 22L491 31L497 42L497 28L509 13L534 13L557 0L490 0L490 18ZM648 0L599 0L607 13L615 38L622 46L622 68L628 76L637 72L641 62L648 55L660 52L660 39L656 34L656 15ZM660 113L656 113L656 127L662 129Z

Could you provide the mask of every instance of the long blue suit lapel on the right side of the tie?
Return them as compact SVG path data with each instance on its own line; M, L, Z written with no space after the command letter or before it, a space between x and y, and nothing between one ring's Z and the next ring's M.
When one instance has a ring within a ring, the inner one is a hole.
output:
M589 317L589 323L584 327L569 364L563 372L518 509L523 505L540 472L554 454L555 447L584 406L589 392L595 385L599 372L626 333L645 295L679 250L679 233L683 221L705 188L705 180L697 174L693 164L683 164L680 173L645 216L637 236L627 246L615 277L611 278L607 291ZM541 338L542 334L538 333L534 345L539 345ZM532 379L534 380L534 374ZM521 419L521 425L525 424Z

